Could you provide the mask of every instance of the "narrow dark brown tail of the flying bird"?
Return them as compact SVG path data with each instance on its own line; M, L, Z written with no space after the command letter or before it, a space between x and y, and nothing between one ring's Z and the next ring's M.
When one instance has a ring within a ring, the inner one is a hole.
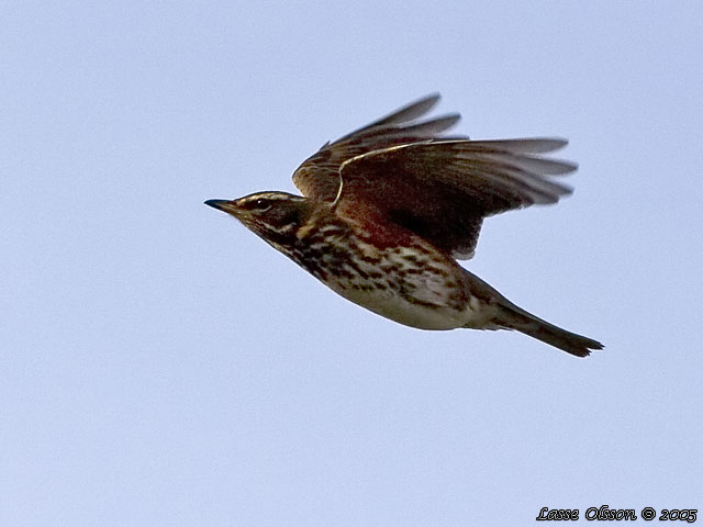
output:
M561 329L514 304L502 305L496 322L506 329L524 333L576 357L588 357L592 349L603 349L598 340Z

